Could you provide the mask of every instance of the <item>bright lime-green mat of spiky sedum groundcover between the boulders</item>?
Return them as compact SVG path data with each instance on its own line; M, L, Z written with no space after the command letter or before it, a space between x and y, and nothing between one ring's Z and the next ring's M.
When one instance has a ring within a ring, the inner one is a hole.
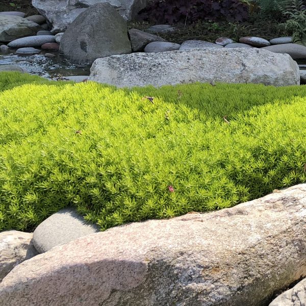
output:
M306 86L116 89L0 73L0 230L73 206L101 230L306 182Z

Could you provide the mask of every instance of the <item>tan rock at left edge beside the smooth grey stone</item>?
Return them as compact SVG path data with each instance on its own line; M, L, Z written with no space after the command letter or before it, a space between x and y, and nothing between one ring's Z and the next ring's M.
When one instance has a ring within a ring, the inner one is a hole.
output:
M38 254L32 236L33 234L18 231L0 233L0 283L14 267Z

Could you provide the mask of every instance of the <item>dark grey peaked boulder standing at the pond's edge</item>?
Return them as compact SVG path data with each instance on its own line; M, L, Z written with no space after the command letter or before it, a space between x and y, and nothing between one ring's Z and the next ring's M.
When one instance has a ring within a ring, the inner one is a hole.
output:
M80 65L131 52L126 22L109 3L96 4L81 13L69 25L60 44L60 53Z

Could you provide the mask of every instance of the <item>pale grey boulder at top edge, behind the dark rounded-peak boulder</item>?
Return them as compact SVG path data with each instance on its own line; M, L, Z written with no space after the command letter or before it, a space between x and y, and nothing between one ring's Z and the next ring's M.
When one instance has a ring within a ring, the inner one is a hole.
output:
M32 0L32 5L53 24L53 32L64 32L86 9L97 3L109 3L125 20L132 20L151 0ZM111 24L111 23L110 23Z

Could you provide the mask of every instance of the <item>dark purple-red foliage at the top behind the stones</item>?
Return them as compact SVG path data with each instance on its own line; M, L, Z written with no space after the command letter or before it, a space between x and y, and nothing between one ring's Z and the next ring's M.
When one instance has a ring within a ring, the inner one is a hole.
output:
M139 19L154 23L192 23L197 20L245 21L248 7L239 0L154 0Z

